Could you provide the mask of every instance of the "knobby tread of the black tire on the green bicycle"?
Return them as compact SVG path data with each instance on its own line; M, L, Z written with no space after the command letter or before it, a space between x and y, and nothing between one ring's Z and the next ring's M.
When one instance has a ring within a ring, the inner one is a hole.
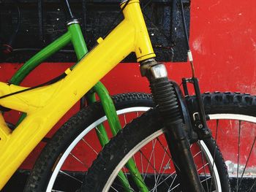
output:
M131 104L136 105L137 103L143 103L143 101L148 102L151 100L151 95L148 93L121 93L112 96L112 99L118 110L119 107L130 106ZM153 106L154 104L152 101L151 107ZM48 169L49 161L54 161L54 159L58 158L56 157L56 154L58 154L56 148L63 145L63 139L72 137L73 134L77 133L78 131L74 131L74 128L80 127L83 129L86 126L84 122L89 124L90 122L97 120L97 117L103 116L103 114L102 105L97 101L94 104L84 107L77 114L73 115L72 118L67 120L67 122L59 128L59 131L54 134L52 139L50 139L50 142L48 142L47 146L44 147L42 153L39 155L33 171L27 180L25 191L41 191L42 184L44 183L44 181L41 180L47 177L47 175L43 173L45 172L45 169ZM53 164L53 162L51 162L51 164Z

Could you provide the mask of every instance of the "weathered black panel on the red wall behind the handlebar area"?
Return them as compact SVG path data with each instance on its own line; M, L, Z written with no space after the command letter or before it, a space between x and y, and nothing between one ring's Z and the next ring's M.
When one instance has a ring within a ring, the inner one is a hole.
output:
M42 3L40 3L42 1ZM176 0L180 1L180 0ZM189 31L189 0L183 0ZM15 0L0 0L0 44L7 43L18 23ZM14 39L14 51L1 61L23 62L52 42L66 30L63 0L19 0L20 28ZM71 0L72 12L79 18L86 44L93 47L96 39L104 37L122 19L119 0ZM187 46L181 21L180 4L174 0L143 0L141 7L148 33L159 61L187 61ZM173 3L175 6L173 6ZM40 11L42 10L42 11ZM173 15L173 17L172 17ZM42 19L40 19L42 18ZM116 20L116 22L114 22ZM64 48L72 50L72 46ZM2 54L1 54L2 55ZM0 62L1 62L0 61ZM58 53L48 61L76 61L74 53ZM135 61L129 55L125 61Z

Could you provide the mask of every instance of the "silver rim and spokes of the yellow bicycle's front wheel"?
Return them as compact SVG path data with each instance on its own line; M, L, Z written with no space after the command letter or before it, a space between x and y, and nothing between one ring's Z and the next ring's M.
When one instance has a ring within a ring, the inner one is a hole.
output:
M105 185L105 188L103 188L103 191L109 191L111 189L113 189L113 191L118 191L118 188L113 187L113 182L115 181L116 177L118 177L118 172L120 170L122 170L123 172L126 172L125 168L123 168L123 167L125 166L125 164L127 163L127 161L130 158L133 158L134 160L136 159L135 158L135 153L138 152L138 149L140 150L140 153L143 153L141 148L145 147L149 142L154 142L154 140L157 140L156 138L161 136L163 133L164 132L162 131L162 129L160 129L159 131L154 132L154 134L151 134L146 139L143 139L138 145L133 147L133 149L130 150L129 153L127 153L127 155L125 155L125 157L122 159L122 161L120 161L118 166L116 166L116 169L110 175L110 177L108 179L108 182ZM216 188L214 190L215 191L221 191L222 187L221 187L221 181L219 180L219 174L218 174L218 171L217 171L217 166L216 166L216 164L214 164L214 158L212 157L210 151L208 150L208 147L206 146L206 144L203 141L197 142L197 144L193 144L193 145L200 146L199 148L203 151L204 158L206 158L207 161L209 162L209 165L208 165L208 163L206 163L206 165L204 164L203 166L200 166L199 168L197 166L197 168L198 168L197 171L198 172L203 171L203 169L206 169L205 166L210 166L208 168L208 172L212 172L211 177L208 174L206 174L206 172L204 172L204 176L203 176L204 178L202 177L201 182L202 183L208 183L208 180L210 180L210 178L211 178L212 180L214 180L212 183L214 183L216 185ZM193 148L193 145L191 146L191 148ZM146 148L148 148L148 146ZM165 148L165 153L166 152L167 152L167 147ZM145 155L143 155L143 156L145 157ZM198 158L199 156L200 156L200 152L196 152L196 153L194 152L194 154L193 154L194 158ZM165 157L167 157L167 155L164 155L164 158ZM150 159L149 161L152 161L152 153L151 153L151 157L149 157L148 159ZM204 161L206 161L206 159ZM164 161L164 159L162 159L162 162L163 161ZM135 161L135 164L138 166L138 161ZM150 164L150 163L148 162L148 164ZM147 165L146 166L147 169L148 169L148 166L152 166L152 165L153 164ZM161 164L161 166L166 167L164 169L167 169L167 166L170 166L170 164L168 162L167 164L165 164L165 166L163 164ZM140 171L141 171L141 165L139 167L140 167ZM206 171L206 170L204 170L204 171ZM143 179L146 179L146 177L148 177L148 176L144 175ZM159 185L163 185L163 183L165 183L168 179L170 179L170 177L173 177L173 180L170 181L171 185L168 186L168 191L176 191L176 189L178 189L178 187L179 187L179 184L176 181L176 179L177 179L176 172L173 171L173 170L172 170L171 174L168 174L168 176L165 176L165 173L163 173L163 172L159 172L156 177L158 178L157 183L154 184L154 188L149 188L148 191L159 191L159 189L157 189L157 187L159 187ZM165 177L165 179L162 179L161 177ZM129 180L129 175L127 176L127 180ZM118 187L120 187L120 185L118 185ZM132 188L132 186L130 186L130 187L131 188L129 190L136 191L134 188ZM120 189L120 190L122 191L123 189ZM160 191L161 190L162 189L160 188Z

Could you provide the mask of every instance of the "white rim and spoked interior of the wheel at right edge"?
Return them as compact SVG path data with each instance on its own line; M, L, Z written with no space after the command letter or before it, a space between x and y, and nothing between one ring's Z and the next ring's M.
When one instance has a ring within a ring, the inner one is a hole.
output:
M219 147L224 151L232 191L256 191L256 118L230 113L208 117L208 122L214 121L210 128L217 143L226 139L225 145Z

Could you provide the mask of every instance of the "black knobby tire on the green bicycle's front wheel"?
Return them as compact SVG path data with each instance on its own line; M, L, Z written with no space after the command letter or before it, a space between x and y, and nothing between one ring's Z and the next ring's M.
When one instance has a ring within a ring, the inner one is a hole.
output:
M154 107L151 95L147 93L118 94L113 96L113 102L116 106L116 110L129 109L130 107ZM83 108L70 118L67 123L64 123L39 155L34 168L31 170L29 179L27 180L25 191L45 191L50 177L52 177L53 170L55 169L56 164L59 163L61 155L67 150L67 147L69 147L86 127L90 126L103 116L105 116L105 113L102 110L102 105L97 102L91 104L89 107ZM66 180L62 180L62 182L63 181ZM77 183L73 184L74 183L67 183L69 189L65 189L64 191L75 191L74 185ZM62 188L63 186L59 187ZM78 185L77 187L80 186Z

